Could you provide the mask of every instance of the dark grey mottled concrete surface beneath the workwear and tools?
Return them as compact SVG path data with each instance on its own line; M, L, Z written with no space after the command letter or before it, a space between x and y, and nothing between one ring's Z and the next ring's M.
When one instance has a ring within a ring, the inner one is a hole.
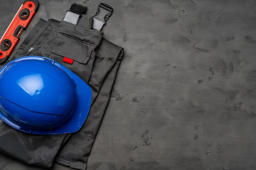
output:
M22 2L0 0L1 36ZM21 41L39 18L100 2L125 53L87 169L255 170L256 1L39 0Z

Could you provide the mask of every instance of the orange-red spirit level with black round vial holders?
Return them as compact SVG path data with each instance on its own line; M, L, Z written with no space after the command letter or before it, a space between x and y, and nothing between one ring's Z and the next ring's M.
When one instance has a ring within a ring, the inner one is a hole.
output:
M27 29L38 7L39 3L37 0L25 0L23 2L0 40L0 64L5 62L13 52L20 40L19 37L22 31Z

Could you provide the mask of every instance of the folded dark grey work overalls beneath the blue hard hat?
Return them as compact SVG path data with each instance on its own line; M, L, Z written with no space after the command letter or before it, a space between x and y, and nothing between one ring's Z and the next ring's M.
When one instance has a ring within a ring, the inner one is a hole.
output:
M92 89L92 104L83 127L72 134L31 135L2 122L0 160L1 156L7 155L27 165L43 168L86 169L124 52L121 47L102 38L101 31L92 29L92 22L88 15L82 15L77 25L40 19L12 58L27 55L49 57L88 83ZM73 64L63 62L63 57L74 60ZM2 169L3 166L4 162L0 161Z

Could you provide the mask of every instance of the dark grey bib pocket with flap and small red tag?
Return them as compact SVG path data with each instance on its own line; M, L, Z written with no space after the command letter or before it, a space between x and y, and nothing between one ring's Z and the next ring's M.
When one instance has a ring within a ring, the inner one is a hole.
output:
M50 58L63 64L88 83L96 55L93 49L93 44L57 33Z

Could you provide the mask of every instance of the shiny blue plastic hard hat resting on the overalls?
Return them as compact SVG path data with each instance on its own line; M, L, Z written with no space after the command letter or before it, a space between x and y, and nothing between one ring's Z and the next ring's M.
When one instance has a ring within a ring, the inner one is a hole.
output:
M21 57L0 70L0 117L24 132L76 132L85 122L91 99L88 84L49 58Z

